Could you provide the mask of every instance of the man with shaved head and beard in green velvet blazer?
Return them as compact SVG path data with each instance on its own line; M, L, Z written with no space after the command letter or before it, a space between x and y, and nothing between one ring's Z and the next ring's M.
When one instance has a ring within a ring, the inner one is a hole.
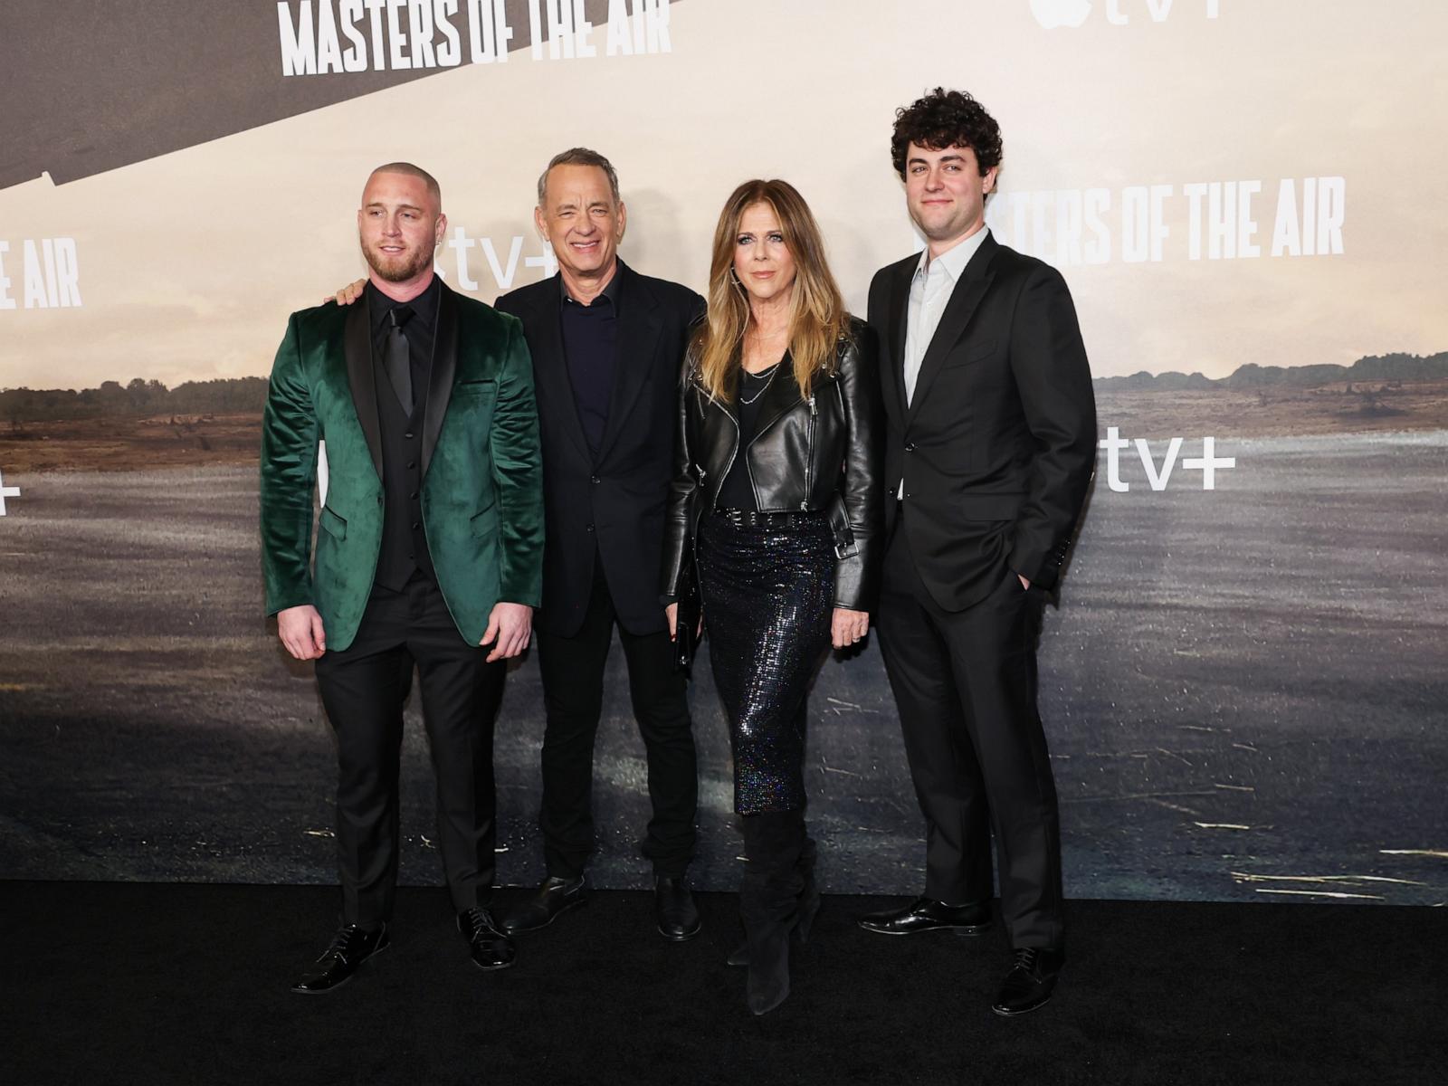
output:
M314 660L337 738L342 925L292 983L330 992L388 944L398 754L413 670L437 779L437 850L482 969L513 964L488 909L492 725L505 662L540 599L542 465L517 319L433 274L447 217L410 162L372 171L358 210L365 304L291 316L262 421L266 613ZM319 443L327 488L313 553Z

